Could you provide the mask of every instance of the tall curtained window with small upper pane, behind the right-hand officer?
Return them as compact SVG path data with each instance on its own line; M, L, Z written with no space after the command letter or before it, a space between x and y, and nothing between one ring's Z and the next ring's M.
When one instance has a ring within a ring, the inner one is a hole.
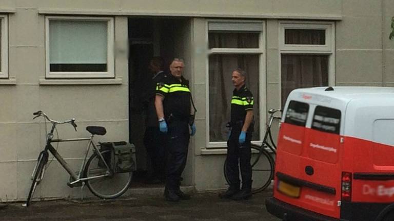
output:
M230 100L234 86L232 71L246 71L246 86L254 97L254 132L252 140L261 138L261 73L264 65L264 24L261 21L210 21L208 23L209 91L207 121L209 146L223 147L227 141L227 122L230 120Z

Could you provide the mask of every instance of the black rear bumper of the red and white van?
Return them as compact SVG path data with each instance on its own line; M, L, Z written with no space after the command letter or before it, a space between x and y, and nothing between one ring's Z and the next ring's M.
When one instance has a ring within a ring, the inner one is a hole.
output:
M286 221L346 221L346 219L337 219L311 212L277 200L274 197L265 200L265 207L269 213Z

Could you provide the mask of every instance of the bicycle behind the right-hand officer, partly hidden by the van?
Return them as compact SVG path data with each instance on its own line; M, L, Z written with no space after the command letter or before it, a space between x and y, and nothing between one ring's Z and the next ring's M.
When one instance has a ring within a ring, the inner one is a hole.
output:
M281 109L270 109L268 114L269 123L267 125L267 130L265 131L264 139L261 145L251 144L252 149L252 157L250 159L250 165L252 166L252 193L259 193L265 190L273 179L274 169L275 169L275 161L272 157L272 154L277 153L277 146L273 141L271 134L271 126L274 119L281 120L281 117L274 116L275 113L282 112ZM268 140L269 139L269 140ZM261 160L263 159L263 160ZM224 161L223 171L224 177L227 183L230 185L230 181L228 179L227 171L227 159Z

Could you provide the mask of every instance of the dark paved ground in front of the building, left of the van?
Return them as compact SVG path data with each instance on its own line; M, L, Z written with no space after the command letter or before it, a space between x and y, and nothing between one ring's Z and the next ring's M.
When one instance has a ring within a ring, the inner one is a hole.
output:
M137 196L102 201L34 202L30 207L10 203L0 209L4 221L279 221L267 213L264 205L270 191L253 195L247 201L221 200L218 193L195 193L189 201L167 202L161 195Z

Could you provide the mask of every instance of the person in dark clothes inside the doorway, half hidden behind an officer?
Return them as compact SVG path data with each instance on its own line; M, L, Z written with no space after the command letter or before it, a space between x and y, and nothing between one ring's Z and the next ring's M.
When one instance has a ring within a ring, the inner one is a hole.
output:
M159 131L156 108L154 107L156 84L162 82L167 74L164 70L164 59L153 57L149 63L149 70L152 72L150 90L146 98L146 120L144 145L152 162L152 174L145 181L146 184L160 184L165 180L166 163L166 137Z

